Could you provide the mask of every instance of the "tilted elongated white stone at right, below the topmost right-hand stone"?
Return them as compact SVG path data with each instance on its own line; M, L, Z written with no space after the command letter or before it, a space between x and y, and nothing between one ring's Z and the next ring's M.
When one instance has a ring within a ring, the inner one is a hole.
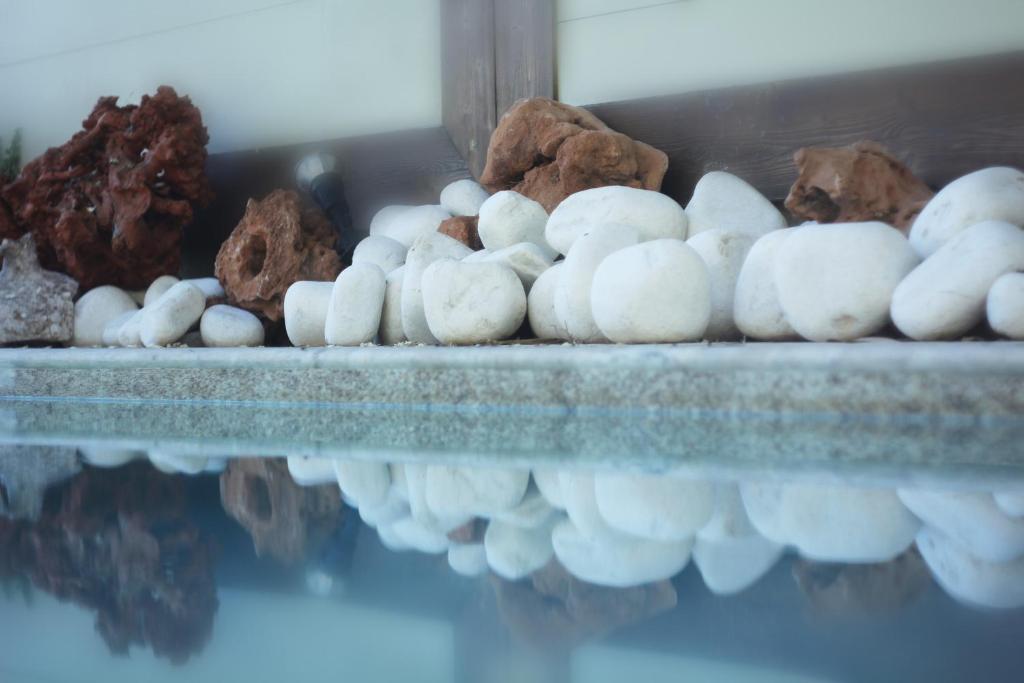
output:
M999 275L1024 268L1024 229L1001 221L967 227L939 247L893 292L892 318L920 341L954 339L985 316Z

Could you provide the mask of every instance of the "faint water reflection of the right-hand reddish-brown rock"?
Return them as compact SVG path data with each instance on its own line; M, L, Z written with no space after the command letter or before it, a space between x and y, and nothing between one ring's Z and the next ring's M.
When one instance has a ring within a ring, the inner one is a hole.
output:
M913 602L932 581L916 548L889 562L833 564L799 559L793 575L814 610L823 614L880 614Z

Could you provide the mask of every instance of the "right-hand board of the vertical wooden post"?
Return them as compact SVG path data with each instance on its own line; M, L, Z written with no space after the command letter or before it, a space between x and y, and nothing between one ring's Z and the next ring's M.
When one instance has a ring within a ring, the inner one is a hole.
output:
M499 119L517 99L555 96L554 0L497 0L495 72Z

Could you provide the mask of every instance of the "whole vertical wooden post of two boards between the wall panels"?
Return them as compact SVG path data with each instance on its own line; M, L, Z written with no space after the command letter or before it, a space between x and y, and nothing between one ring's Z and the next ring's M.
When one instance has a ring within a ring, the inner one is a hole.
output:
M499 117L555 94L554 0L441 0L442 119L475 177Z

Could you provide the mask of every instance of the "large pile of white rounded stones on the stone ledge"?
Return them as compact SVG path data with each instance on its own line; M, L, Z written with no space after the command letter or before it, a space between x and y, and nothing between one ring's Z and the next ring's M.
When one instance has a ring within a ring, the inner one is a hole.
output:
M482 251L437 231L453 215L478 215ZM1022 227L1024 173L1011 168L947 185L908 237L881 222L787 227L724 172L685 209L610 186L550 216L459 180L439 206L382 209L336 282L292 286L285 321L297 346L480 344L525 318L541 339L587 343L851 341L890 322L911 339L957 339L986 316L1024 339Z

